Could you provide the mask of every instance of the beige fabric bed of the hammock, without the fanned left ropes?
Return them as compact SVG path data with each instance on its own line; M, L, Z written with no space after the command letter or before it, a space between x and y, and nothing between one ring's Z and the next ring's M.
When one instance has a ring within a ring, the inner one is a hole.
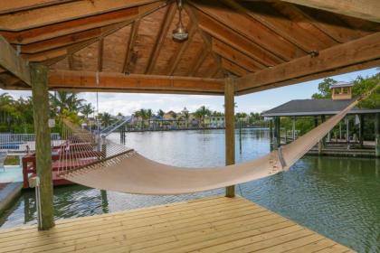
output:
M138 155L136 151L128 150L95 162L88 158L76 158L81 161L81 166L62 170L60 176L73 183L102 190L149 195L203 192L246 183L289 170L292 164L326 136L357 103L358 100L352 102L336 116L330 117L280 150L242 164L203 169L181 168L159 164Z

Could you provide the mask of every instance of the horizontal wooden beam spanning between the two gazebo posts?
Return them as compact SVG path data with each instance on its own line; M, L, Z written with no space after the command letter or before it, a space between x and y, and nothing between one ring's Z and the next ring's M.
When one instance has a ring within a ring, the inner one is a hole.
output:
M125 75L122 73L52 70L50 89L72 89L110 92L156 92L184 94L223 94L223 80L168 77L156 75Z

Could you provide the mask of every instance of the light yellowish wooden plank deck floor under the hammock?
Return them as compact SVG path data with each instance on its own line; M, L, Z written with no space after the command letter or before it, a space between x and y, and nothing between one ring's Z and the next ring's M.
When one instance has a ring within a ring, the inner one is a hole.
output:
M353 252L242 198L204 198L0 230L0 252Z

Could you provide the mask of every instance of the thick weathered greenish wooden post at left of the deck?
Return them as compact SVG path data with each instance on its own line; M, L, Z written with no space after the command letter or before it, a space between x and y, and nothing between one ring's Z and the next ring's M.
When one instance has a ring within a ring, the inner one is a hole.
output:
M33 116L35 132L35 156L37 175L40 177L41 217L39 230L54 227L52 199L52 147L48 125L49 92L48 67L31 65Z

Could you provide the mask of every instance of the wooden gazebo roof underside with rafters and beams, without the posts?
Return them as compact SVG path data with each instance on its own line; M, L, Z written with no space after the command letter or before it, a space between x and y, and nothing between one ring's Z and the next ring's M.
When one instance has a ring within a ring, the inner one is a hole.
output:
M380 15L315 2L185 1L175 42L175 1L1 1L0 86L30 89L31 62L51 89L223 94L233 76L238 95L380 66Z

